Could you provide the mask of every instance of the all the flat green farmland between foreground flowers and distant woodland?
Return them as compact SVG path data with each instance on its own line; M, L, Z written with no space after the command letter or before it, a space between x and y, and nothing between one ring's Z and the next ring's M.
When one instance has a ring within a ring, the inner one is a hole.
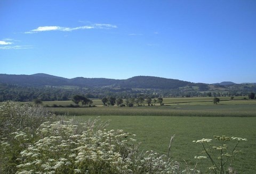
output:
M68 115L79 122L89 118L111 120L107 129L123 129L136 134L140 149L154 150L161 154L168 151L169 141L175 134L171 146L171 158L195 166L195 155L202 155L202 146L193 143L214 135L247 138L238 145L239 154L234 167L239 173L256 173L256 100L229 100L221 98L213 105L213 98L167 98L165 106L47 108L57 114ZM48 102L47 105L69 105L71 102ZM64 104L65 103L65 104ZM44 102L46 105L46 102ZM210 166L210 164L208 165Z

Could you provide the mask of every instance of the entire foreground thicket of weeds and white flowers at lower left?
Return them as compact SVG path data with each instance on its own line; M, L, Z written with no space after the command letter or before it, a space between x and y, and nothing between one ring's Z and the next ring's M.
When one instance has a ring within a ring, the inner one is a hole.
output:
M179 173L179 164L139 152L135 135L97 120L58 120L42 107L0 108L0 173ZM194 170L190 170L190 173Z

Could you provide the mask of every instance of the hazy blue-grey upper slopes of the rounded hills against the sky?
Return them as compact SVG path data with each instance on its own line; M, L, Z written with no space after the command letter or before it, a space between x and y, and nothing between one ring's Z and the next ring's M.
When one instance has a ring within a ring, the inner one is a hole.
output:
M101 88L106 86L120 88L142 88L142 89L175 89L194 83L165 79L154 76L135 76L126 80L105 79L105 78L85 78L75 77L67 79L49 74L32 74L32 75L11 75L0 74L0 83L16 84L22 86L82 86L89 88Z

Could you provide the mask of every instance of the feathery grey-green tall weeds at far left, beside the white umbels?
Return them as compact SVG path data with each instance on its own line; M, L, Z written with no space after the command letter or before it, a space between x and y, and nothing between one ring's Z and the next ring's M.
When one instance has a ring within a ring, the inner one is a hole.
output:
M4 102L0 106L0 173L15 173L20 152L36 139L37 128L57 117L42 106Z

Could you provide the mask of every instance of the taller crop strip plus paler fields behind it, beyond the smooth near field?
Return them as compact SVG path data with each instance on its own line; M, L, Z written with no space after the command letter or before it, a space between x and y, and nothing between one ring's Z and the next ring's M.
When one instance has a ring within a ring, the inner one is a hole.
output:
M47 108L60 115L97 115L97 116L219 116L219 117L254 117L256 116L256 100L229 100L220 98L218 105L213 105L213 98L164 98L165 106L147 105L142 107L103 107L100 99L93 100L96 107L79 108ZM43 102L43 105L67 106L71 101ZM74 103L73 103L74 104ZM146 103L145 103L146 104Z

